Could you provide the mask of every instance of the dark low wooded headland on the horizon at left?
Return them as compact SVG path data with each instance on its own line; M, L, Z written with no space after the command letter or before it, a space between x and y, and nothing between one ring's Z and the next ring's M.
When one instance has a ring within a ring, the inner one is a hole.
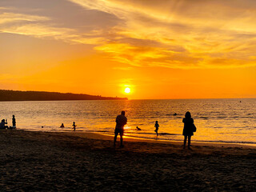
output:
M126 100L90 94L71 94L46 91L0 90L0 102L4 101L58 101L58 100Z

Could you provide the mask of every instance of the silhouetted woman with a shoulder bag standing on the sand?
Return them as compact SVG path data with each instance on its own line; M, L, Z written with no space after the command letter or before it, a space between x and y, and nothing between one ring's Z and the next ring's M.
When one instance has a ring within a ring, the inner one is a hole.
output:
M191 136L193 134L193 124L194 124L194 119L191 118L191 114L189 111L186 112L185 118L183 118L182 122L184 122L184 128L183 128L183 135L184 135L184 145L183 149L186 147L186 138L188 138L187 144L188 148L190 149L190 141L191 141Z

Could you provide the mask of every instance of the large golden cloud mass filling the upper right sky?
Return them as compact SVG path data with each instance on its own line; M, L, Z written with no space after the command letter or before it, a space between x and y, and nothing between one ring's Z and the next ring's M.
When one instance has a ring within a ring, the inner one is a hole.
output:
M244 1L227 1L231 6L222 1L70 2L122 19L113 30L115 38L95 47L118 62L182 69L256 65L251 59L256 49L251 44L256 35L256 4L252 1L247 1L250 6L242 6Z

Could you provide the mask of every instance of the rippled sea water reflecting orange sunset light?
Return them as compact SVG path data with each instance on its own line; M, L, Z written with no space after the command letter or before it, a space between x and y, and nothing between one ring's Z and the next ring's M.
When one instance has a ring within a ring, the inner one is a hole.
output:
M18 129L70 131L76 122L78 131L112 135L116 116L125 110L127 136L176 141L183 139L182 118L189 110L197 126L193 141L256 145L256 98L0 102L0 109L0 118L7 118L9 126L12 115L16 116ZM154 133L156 120L158 137ZM59 128L62 122L64 129Z

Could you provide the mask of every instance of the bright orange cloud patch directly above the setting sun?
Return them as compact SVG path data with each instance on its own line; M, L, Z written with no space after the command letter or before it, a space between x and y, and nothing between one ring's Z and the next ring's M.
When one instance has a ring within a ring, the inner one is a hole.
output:
M162 66L168 68L196 67L200 58L187 56L186 53L168 50L153 46L132 46L128 43L108 43L95 47L111 54L112 59L117 62L128 63L131 66ZM198 68L198 67L196 67Z

